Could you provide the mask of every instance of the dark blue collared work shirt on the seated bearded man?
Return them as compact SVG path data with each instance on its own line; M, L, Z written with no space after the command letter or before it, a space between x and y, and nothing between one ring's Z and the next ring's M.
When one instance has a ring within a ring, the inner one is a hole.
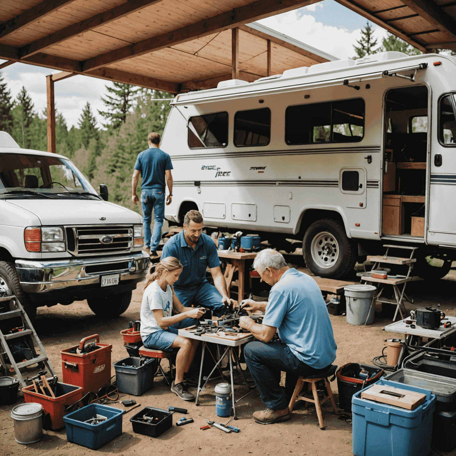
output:
M179 280L174 283L178 288L204 284L207 282L206 268L220 266L214 241L204 233L198 239L195 250L187 244L184 230L174 235L163 247L161 258L169 256L177 258L184 265Z

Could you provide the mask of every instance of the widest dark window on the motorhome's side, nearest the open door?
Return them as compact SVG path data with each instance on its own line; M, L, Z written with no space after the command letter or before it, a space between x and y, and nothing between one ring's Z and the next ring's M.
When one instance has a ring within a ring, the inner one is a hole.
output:
M290 145L361 141L364 111L362 98L289 106L285 141Z

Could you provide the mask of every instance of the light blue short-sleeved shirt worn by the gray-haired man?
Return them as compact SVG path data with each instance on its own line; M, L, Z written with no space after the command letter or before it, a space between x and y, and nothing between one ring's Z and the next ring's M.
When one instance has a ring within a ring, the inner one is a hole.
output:
M276 327L280 340L312 368L326 368L336 359L331 320L310 275L295 268L285 271L271 288L263 324Z

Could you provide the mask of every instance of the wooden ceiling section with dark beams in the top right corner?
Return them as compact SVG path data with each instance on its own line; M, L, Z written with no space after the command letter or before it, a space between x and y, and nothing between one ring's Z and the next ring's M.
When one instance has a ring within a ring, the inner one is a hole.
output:
M456 1L336 0L422 52L456 49Z

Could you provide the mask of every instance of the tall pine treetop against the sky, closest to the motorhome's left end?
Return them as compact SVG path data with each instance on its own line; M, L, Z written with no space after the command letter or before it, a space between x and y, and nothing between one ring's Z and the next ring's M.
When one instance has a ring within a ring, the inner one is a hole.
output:
M110 122L114 130L118 129L121 124L125 123L127 113L133 107L133 97L140 90L139 88L133 89L130 84L116 83L114 87L105 86L106 90L111 95L106 95L106 98L101 97L103 103L107 106L108 111L98 110L98 114L102 115ZM105 127L109 124L104 125Z

